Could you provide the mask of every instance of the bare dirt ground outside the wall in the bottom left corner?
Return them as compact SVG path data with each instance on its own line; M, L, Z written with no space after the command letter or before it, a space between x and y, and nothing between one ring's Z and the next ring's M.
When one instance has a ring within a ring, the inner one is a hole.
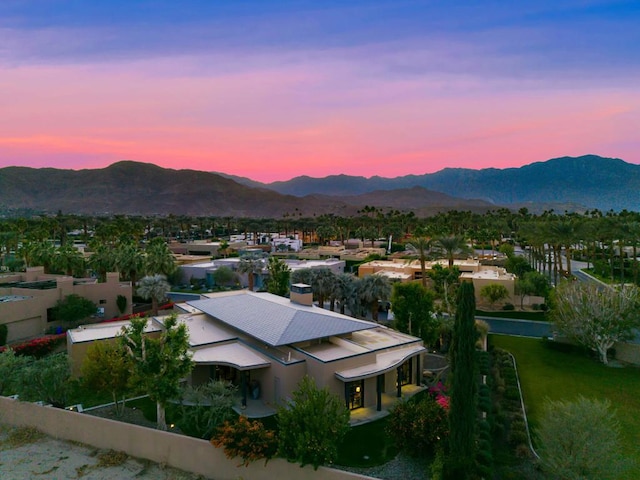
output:
M122 452L47 437L33 429L0 425L2 480L205 480Z

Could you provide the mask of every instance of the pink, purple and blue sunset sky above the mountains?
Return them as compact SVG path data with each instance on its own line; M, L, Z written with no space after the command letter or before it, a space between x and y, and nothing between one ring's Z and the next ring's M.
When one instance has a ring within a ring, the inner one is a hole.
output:
M617 2L36 3L0 6L0 167L270 182L640 163L640 15Z

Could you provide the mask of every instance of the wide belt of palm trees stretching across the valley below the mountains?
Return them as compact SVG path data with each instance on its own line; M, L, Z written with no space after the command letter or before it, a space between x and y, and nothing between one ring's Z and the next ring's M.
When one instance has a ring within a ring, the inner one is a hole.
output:
M81 264L67 247L75 236L91 244L96 253L100 252L97 258L102 257L101 260L95 260L97 271L104 272L104 265L112 267L115 263L123 278L134 279L147 273L140 268L139 251L145 250L140 247L142 242L149 244L153 238L165 241L228 238L233 234L257 237L259 232L297 235L307 244L354 237L375 242L392 237L394 248L404 249L402 244L409 242L417 258L424 256L421 251L433 251L439 246L449 259L462 245L495 249L509 239L528 246L530 261L552 276L570 275L571 264L565 258L579 256L612 279L636 283L640 280L636 255L640 213L624 210L563 214L545 211L540 215L531 214L526 208L517 212L501 208L485 214L452 210L428 218L371 206L349 217L332 214L303 217L295 209L282 218L91 217L59 213L0 220L0 257L5 264L13 257L24 262L23 266L39 263L51 271L75 272L81 269ZM421 245L423 241L427 243ZM119 250L118 254L104 252L105 246Z

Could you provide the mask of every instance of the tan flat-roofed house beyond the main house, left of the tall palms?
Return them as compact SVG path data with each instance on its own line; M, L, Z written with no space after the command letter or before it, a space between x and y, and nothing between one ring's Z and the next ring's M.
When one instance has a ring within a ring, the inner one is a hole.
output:
M425 270L429 271L434 265L448 267L448 260L441 259L425 262ZM508 273L502 267L482 265L478 260L454 260L454 265L460 270L460 280L471 280L475 289L476 301L480 301L480 290L485 285L496 283L503 285L509 292L511 303L519 303L515 296L516 276ZM363 263L358 267L358 276L383 275L392 281L410 282L422 278L419 260L374 260Z

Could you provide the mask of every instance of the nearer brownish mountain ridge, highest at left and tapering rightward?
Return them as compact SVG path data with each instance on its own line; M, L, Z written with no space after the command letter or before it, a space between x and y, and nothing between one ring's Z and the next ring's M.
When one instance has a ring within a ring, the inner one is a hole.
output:
M410 206L406 200L412 199ZM404 199L404 200L403 200ZM452 208L477 212L494 208L423 188L333 197L285 195L251 188L214 173L171 170L132 161L95 170L6 167L0 169L0 212L26 210L91 215L193 215L280 218L294 210L302 216L350 216L365 205L412 210L423 216Z

